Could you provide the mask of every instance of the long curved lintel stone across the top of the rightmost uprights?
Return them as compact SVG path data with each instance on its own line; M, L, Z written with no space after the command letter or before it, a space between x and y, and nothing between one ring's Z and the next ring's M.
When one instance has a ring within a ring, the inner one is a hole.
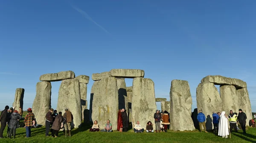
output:
M215 85L233 85L236 88L246 88L247 84L243 80L236 78L223 77L221 75L208 75L201 80L201 83L214 83Z

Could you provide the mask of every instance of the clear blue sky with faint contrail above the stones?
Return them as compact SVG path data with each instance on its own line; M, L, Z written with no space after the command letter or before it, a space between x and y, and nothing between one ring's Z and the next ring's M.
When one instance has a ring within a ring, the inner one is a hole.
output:
M2 1L0 109L12 106L16 88L25 89L24 108L32 107L41 74L144 69L156 97L169 100L171 81L187 80L192 109L203 77L239 78L256 112L255 6L238 0ZM53 108L60 83L52 83ZM87 100L92 85L90 79Z

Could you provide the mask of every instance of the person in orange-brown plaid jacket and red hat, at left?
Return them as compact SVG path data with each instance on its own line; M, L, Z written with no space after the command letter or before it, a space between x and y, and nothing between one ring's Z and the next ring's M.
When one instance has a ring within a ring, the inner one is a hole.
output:
M26 137L31 137L31 127L33 126L33 120L35 119L34 113L32 113L32 109L28 108L28 113L25 116L24 123L26 126Z

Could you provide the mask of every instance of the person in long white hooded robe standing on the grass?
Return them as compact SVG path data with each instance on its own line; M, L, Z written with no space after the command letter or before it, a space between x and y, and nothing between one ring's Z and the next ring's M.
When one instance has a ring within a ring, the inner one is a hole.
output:
M224 111L221 112L218 128L218 135L227 138L227 135L229 135L229 123Z

